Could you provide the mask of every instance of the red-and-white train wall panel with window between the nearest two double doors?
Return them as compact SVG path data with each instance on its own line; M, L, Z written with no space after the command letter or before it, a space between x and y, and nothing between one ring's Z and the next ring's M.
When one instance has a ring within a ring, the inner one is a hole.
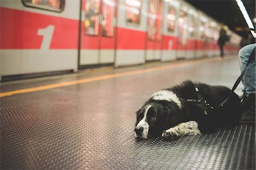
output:
M147 4L144 0L119 0L115 67L145 62Z

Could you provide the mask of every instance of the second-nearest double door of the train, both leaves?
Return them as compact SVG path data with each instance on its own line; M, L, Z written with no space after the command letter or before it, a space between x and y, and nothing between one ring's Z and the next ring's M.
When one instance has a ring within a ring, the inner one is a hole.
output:
M162 52L162 0L150 0L146 42L146 61L159 60Z

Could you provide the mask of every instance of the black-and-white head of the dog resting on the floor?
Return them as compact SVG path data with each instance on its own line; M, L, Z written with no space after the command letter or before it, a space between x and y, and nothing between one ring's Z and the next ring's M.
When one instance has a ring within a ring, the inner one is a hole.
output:
M157 137L179 121L181 109L175 103L149 103L137 111L135 137L147 139Z

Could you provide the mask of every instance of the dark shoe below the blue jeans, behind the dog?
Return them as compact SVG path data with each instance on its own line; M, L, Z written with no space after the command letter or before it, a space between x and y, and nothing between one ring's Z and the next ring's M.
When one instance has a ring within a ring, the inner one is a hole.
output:
M242 117L240 122L253 123L255 122L255 94L243 95L241 99Z

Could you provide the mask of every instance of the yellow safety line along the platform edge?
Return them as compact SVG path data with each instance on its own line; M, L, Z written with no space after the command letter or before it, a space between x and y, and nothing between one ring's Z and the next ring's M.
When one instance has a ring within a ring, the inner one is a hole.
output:
M212 58L210 60L213 60L213 59L216 60L216 58ZM175 63L175 65L159 66L159 67L148 68L148 69L143 69L143 70L127 71L125 73L114 73L114 74L96 76L96 77L93 77L93 78L73 80L71 82L48 84L46 86L24 88L24 89L21 89L21 90L2 92L2 93L0 93L0 97L11 96L11 95L16 95L16 94L24 94L24 93L28 93L28 92L48 90L48 89L57 88L57 87L72 86L72 85L81 84L81 83L96 82L96 81L99 81L99 80L112 79L112 78L117 78L117 77L121 77L121 76L128 76L128 75L135 75L135 74L142 74L142 73L150 73L152 71L167 70L167 69L172 69L174 67L187 66L187 65L192 65L192 64L196 64L196 63L204 63L204 62L209 62L209 59L207 59L207 60L200 59L200 60L197 60L197 61L190 61L190 62L185 62L185 63Z

